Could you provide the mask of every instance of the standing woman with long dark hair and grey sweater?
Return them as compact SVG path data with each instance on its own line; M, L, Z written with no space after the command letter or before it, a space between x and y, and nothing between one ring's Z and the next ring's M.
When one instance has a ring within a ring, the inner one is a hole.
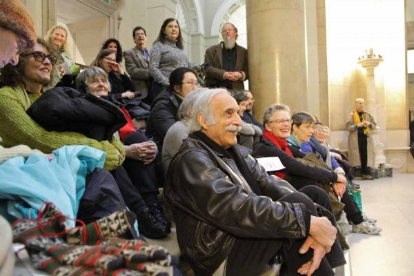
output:
M168 78L173 70L188 67L188 57L183 49L183 37L177 19L166 19L150 52L150 75L154 78L151 92L154 98L168 87Z

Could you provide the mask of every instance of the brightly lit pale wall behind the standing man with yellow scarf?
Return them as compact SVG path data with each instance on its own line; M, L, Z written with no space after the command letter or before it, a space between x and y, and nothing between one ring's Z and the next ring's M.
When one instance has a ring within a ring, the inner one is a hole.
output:
M371 6L361 1L326 1L328 89L334 130L331 143L347 147L344 122L353 110L353 100L366 98L366 71L357 65L357 57L364 55L364 49L374 48L384 56L384 62L375 69L375 119L381 128L380 137L386 147L406 146L404 0L366 3Z

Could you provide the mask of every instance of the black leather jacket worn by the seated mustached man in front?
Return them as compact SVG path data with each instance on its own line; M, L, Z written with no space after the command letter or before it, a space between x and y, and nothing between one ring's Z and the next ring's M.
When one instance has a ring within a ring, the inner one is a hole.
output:
M267 175L236 145L253 172L262 196L255 195L235 162L191 136L172 159L164 195L177 224L181 252L196 275L211 275L224 262L235 237L302 238L308 233L303 204L277 201L295 188ZM266 196L264 196L266 195Z

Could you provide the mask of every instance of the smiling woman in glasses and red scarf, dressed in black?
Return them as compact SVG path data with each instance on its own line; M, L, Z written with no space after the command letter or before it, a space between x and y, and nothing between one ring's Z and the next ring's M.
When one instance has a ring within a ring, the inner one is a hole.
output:
M308 185L335 183L341 175L332 170L302 163L293 157L288 148L288 137L292 128L290 109L284 104L273 104L264 111L265 126L262 141L253 150L253 157L279 157L283 170L270 172L285 179L297 190Z

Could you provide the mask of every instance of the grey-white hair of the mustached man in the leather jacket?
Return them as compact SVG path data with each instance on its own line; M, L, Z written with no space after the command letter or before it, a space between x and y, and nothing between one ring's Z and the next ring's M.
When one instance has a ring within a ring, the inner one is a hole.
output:
M197 97L197 100L195 101L193 105L193 109L191 110L192 117L188 124L188 129L190 130L190 132L201 130L201 126L197 119L197 116L199 115L199 113L203 115L208 125L214 125L216 123L215 115L214 115L214 108L213 106L211 106L211 101L213 101L213 98L219 93L226 93L227 95L230 96L230 93L226 89L215 88L215 89L209 89L208 92L201 93L201 95Z

